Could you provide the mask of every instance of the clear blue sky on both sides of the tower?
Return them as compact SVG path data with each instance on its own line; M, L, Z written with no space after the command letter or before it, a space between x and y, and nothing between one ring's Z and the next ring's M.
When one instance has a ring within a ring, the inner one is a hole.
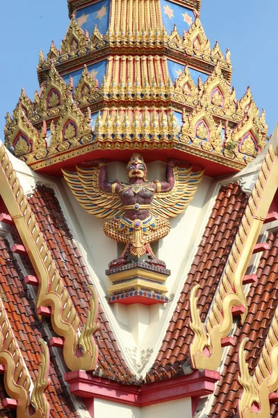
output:
M0 26L0 138L4 116L17 104L24 87L31 100L38 89L36 67L40 49L46 56L54 40L65 36L67 0L10 0L1 4ZM239 99L248 85L258 107L264 108L269 133L278 120L277 0L202 0L201 20L206 36L222 52L229 47L234 73L232 85Z

